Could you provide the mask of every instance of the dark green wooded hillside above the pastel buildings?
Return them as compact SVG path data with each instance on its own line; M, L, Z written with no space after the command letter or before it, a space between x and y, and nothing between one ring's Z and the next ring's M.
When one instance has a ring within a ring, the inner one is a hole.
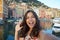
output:
M15 0L17 3L21 3L21 2L25 2L27 3L29 6L36 6L36 7L39 7L39 6L42 6L42 7L45 7L45 8L49 8L47 5L45 5L44 3L41 3L40 1L38 0Z

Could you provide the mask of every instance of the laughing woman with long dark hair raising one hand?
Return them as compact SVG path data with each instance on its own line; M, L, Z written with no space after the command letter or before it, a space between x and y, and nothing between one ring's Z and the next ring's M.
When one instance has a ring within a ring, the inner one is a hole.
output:
M59 40L57 37L45 33L41 26L38 16L33 10L25 13L20 27L17 25L15 40Z

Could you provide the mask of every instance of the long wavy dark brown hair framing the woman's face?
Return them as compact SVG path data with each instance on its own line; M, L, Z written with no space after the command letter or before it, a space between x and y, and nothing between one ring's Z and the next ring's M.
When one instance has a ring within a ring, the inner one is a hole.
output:
M34 17L35 17L35 19L36 19L36 24L35 24L35 26L33 27L33 30L32 30L32 32L30 33L30 36L31 36L31 37L38 37L38 34L39 34L40 30L42 29L41 26L40 26L40 20L38 19L37 14L36 14L33 10L28 10L28 11L25 13L25 15L24 15L24 17L23 17L23 21L22 21L22 23L21 23L21 25L20 25L20 26L23 26L23 28L18 31L18 35L19 35L18 37L26 37L27 32L28 32L29 29L30 29L30 28L28 27L28 25L26 24L26 17L27 17L27 14L28 14L29 12L32 12L32 14L34 15Z

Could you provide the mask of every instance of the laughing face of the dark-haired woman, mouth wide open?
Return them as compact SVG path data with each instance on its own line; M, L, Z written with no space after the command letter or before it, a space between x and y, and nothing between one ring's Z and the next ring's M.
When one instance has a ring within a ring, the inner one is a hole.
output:
M29 26L29 28L33 28L36 24L36 19L32 12L29 12L26 17L26 23Z

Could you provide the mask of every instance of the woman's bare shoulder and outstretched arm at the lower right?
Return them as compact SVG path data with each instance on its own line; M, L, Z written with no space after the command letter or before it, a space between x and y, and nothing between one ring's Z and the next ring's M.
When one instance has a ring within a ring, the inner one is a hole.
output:
M40 37L43 39L43 40L60 40L60 38L52 35L52 34L48 34L46 33L45 31L41 31L40 32Z

